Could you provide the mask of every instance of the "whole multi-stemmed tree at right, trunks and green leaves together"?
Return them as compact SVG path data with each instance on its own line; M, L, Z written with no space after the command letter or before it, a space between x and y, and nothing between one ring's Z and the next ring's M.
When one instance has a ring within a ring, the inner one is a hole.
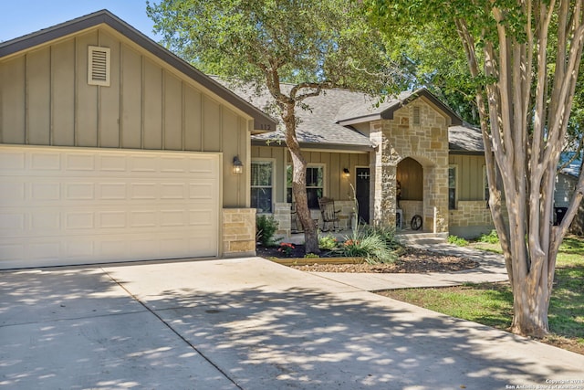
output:
M579 97L584 44L582 1L371 0L366 4L371 19L388 36L394 36L395 26L440 26L433 29L435 36L423 42L437 40L442 47L460 47L454 59L464 54L470 75L465 84L474 89L485 142L489 205L514 289L513 330L546 333L558 247L584 193L580 174L568 213L559 227L552 227L560 153L568 130L577 137L581 132L579 104L573 103L575 95ZM429 53L418 54L435 63ZM433 80L440 79L440 73L448 75L443 66L435 71ZM572 107L578 110L570 120ZM497 185L498 175L502 188Z

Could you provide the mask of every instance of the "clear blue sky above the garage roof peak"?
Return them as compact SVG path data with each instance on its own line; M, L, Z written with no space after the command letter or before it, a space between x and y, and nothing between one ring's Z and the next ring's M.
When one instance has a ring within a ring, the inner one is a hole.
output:
M151 0L152 3L160 1ZM2 0L1 4L0 42L101 9L109 10L148 37L160 39L152 33L154 22L146 16L146 0Z

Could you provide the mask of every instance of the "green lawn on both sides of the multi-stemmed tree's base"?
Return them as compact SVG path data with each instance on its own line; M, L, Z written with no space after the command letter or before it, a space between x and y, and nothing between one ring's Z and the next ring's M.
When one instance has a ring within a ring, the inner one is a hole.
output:
M498 246L480 243L479 248L484 245L492 250ZM391 290L382 294L498 329L507 329L513 317L513 294L508 283ZM545 342L584 354L584 238L567 237L560 247L548 321L552 334Z

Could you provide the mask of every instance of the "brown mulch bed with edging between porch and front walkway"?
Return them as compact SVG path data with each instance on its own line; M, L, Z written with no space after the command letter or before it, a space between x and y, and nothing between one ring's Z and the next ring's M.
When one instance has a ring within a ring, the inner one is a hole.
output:
M278 248L256 248L257 256L262 258L304 258L303 245L295 245L286 256ZM332 257L324 251L321 258ZM291 266L308 272L359 272L359 273L424 273L424 272L454 272L465 269L475 269L478 263L470 258L443 255L441 253L417 248L405 248L403 254L391 264L319 264L315 258L314 264Z

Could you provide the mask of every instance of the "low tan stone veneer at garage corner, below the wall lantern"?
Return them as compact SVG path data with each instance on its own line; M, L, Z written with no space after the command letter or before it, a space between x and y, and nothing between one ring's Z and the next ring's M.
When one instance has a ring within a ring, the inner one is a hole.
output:
M223 256L255 256L255 208L223 209Z

